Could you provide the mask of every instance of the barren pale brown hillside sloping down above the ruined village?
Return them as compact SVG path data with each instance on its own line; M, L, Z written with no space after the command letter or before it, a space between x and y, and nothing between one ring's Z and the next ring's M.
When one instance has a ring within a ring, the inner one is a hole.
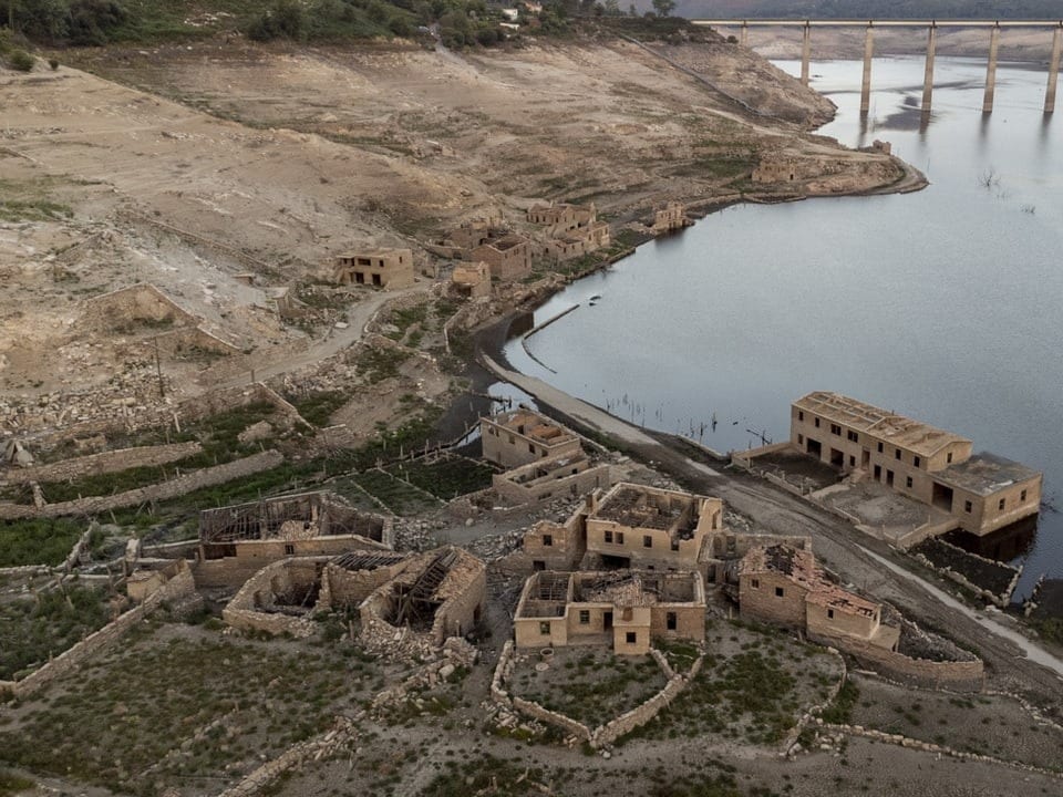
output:
M144 335L123 348L82 323L85 299L138 281L244 352L164 362L171 392L196 394L303 364L323 330L281 321L271 297L327 277L344 249L411 246L421 267L423 245L460 220L493 211L519 227L538 199L592 200L619 224L670 199L902 179L896 159L807 135L828 101L706 35L475 53L211 41L62 53L89 71L0 71L6 196L48 208L0 218L0 393L34 402L117 374L146 401ZM766 153L825 176L754 185ZM361 306L363 322L374 302Z

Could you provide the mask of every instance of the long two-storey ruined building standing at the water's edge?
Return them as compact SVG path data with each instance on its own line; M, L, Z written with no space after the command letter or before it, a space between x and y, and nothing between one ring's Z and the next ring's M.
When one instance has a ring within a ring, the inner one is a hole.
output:
M805 454L937 507L974 535L1040 510L1039 472L993 454L972 456L964 437L837 393L794 402L789 437Z

